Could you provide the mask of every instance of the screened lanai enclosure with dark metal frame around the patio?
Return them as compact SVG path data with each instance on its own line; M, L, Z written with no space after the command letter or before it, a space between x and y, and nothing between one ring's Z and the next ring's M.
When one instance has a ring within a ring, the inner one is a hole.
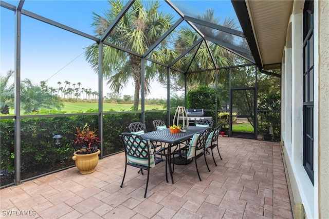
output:
M103 158L130 123L169 126L177 106L227 136L280 141L281 66L255 56L239 3L0 4L1 188L72 167L76 127L98 130Z

